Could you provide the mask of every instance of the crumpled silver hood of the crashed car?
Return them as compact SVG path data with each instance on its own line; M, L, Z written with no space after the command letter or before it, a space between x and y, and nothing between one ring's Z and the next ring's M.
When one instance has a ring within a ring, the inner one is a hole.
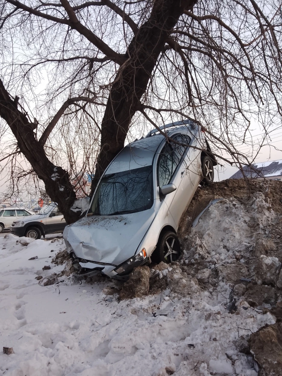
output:
M120 265L135 254L154 217L153 209L84 217L65 227L63 237L79 258Z

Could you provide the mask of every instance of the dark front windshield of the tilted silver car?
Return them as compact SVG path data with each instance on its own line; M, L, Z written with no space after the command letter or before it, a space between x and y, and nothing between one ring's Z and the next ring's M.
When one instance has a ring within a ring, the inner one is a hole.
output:
M136 213L153 205L152 166L105 175L91 209L94 215Z

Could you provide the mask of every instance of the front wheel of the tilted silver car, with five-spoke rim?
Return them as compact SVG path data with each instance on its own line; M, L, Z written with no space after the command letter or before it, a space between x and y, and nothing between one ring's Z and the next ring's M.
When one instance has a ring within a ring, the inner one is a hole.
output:
M155 251L152 253L152 262L157 264L161 261L169 264L182 255L180 241L173 231L165 231L159 237Z

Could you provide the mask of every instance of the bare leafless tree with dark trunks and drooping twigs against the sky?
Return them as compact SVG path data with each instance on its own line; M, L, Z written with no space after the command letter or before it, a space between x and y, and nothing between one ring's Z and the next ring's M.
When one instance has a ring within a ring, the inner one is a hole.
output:
M259 147L281 124L281 16L274 1L2 0L1 136L15 145L3 158L22 153L68 223L72 182L96 168L93 193L146 123L194 119L218 156L252 162L236 147L250 120Z

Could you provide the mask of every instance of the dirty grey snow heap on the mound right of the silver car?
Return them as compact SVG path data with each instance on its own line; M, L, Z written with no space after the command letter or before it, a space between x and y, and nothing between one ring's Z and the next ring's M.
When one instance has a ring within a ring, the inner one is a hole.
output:
M185 258L209 259L215 266L236 262L243 264L265 227L275 218L269 199L261 192L243 205L237 199L223 199L210 206L191 229ZM246 276L247 277L247 276Z

